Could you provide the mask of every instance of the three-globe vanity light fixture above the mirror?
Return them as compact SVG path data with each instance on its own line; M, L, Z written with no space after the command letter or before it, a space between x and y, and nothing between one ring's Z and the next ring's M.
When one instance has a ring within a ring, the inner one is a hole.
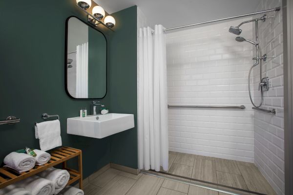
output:
M91 6L91 0L76 0L76 6L78 6L87 14L87 21L90 24L94 26L102 24L111 31L113 31L112 28L115 26L115 19L112 16L105 17L105 10L103 9L103 7L99 5L94 6L91 14L87 11L87 9ZM102 19L104 19L104 22L102 21Z

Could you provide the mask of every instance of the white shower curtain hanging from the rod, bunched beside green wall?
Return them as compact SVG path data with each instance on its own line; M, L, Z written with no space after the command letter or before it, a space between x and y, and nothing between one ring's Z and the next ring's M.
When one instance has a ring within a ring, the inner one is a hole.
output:
M139 168L168 169L167 65L164 27L139 30L138 148Z

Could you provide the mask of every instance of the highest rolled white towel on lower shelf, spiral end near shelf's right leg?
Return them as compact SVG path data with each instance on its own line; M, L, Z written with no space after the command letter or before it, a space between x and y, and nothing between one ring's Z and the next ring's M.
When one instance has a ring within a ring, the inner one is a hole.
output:
M60 191L63 190L63 188L66 186L69 180L69 173L66 170L62 169L55 169L54 167L50 167L41 173L38 174L38 176L48 179L52 181L55 185L55 192L54 195L57 195L60 193Z

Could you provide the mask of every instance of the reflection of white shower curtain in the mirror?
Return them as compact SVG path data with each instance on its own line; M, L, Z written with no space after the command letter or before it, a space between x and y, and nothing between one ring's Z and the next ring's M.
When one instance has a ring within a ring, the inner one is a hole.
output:
M76 46L76 96L88 97L88 42Z

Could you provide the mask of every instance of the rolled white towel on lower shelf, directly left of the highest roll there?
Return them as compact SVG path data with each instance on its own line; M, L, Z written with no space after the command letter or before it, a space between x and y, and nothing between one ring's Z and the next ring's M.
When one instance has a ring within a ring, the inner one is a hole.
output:
M32 195L53 195L55 192L54 183L39 176L30 176L15 185L31 192Z

